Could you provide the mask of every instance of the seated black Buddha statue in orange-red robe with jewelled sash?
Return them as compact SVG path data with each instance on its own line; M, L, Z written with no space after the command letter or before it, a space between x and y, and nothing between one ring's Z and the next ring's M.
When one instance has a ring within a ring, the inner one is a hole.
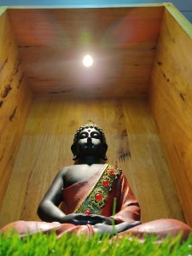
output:
M76 132L71 150L73 166L66 166L56 175L38 206L43 221L16 221L0 230L15 230L20 236L36 232L57 236L73 232L91 236L99 233L119 238L153 234L160 237L182 231L183 239L191 228L181 221L163 218L142 224L140 207L130 185L117 165L106 163L108 145L102 129L89 122ZM114 203L116 201L116 203Z

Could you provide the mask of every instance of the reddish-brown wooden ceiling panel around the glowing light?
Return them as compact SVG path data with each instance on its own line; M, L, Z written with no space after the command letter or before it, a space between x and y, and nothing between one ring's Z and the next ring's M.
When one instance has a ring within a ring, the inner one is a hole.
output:
M62 96L141 96L163 6L9 9L32 90ZM93 55L93 67L82 65Z

